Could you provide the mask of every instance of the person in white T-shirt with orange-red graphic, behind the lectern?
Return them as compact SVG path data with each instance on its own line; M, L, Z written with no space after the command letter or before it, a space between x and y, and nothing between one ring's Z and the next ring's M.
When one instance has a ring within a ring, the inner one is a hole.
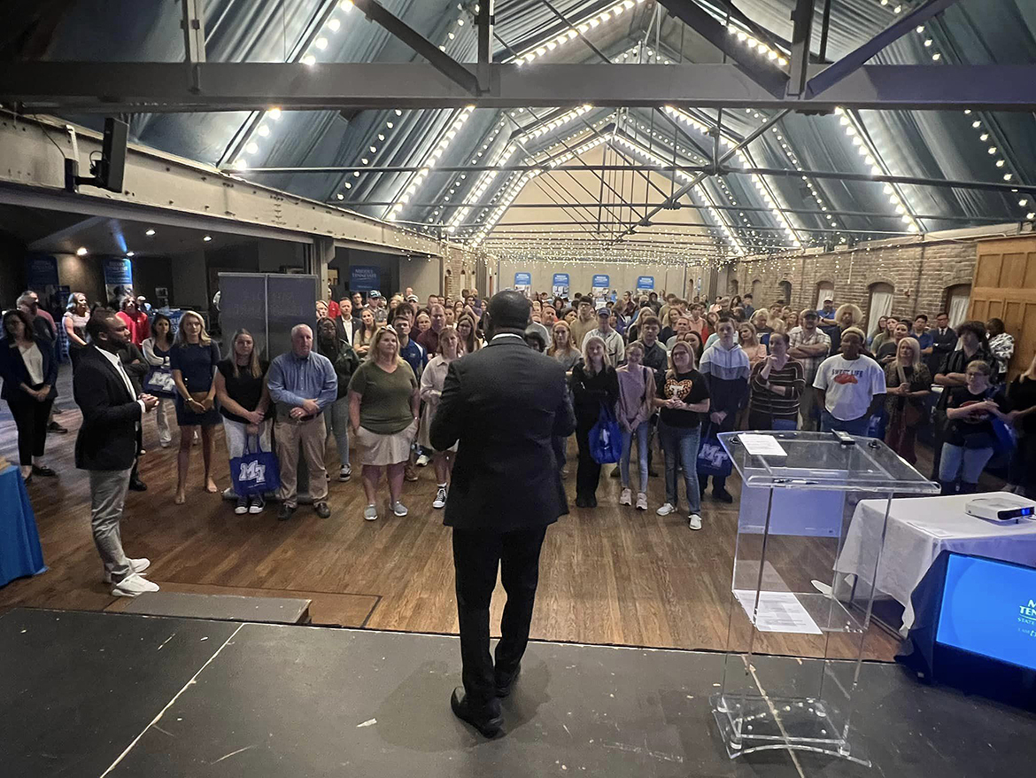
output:
M828 357L816 368L813 388L821 407L821 432L841 429L866 435L870 416L884 400L885 371L861 354L865 336L856 327L841 335L841 353Z

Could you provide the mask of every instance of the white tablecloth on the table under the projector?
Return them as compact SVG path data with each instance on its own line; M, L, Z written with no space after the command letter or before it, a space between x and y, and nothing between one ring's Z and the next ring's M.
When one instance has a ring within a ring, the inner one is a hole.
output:
M1036 566L1036 522L996 525L968 516L965 505L977 496L913 497L892 501L885 551L877 571L877 589L904 607L902 634L905 635L914 623L910 596L940 552L956 551ZM835 562L836 571L856 574L869 583L882 540L885 506L885 500L861 500L856 506L845 544Z

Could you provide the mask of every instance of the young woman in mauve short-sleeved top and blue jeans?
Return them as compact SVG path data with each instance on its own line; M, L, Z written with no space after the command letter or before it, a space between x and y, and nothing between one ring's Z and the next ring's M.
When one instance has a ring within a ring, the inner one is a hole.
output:
M648 509L648 430L649 419L655 411L655 371L642 364L644 346L634 340L626 346L626 364L615 373L618 377L618 404L616 416L623 430L623 455L618 461L618 472L623 479L620 505L632 505L630 491L630 453L633 437L637 439L637 459L640 480L637 489L637 510Z

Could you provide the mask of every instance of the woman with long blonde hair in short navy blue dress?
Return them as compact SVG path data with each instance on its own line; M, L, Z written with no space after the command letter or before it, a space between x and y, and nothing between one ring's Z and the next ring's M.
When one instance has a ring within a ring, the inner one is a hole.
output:
M215 409L215 366L220 362L220 346L205 332L201 314L185 311L180 329L169 355L169 366L176 382L176 423L180 427L180 448L176 457L177 505L186 501L188 468L191 465L191 441L201 427L202 460L205 463L205 491L218 491L212 479L213 430L220 423Z

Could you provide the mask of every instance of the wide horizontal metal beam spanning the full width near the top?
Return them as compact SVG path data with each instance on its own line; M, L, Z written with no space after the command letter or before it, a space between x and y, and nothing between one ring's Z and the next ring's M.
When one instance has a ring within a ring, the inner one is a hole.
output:
M469 91L425 63L205 62L202 88L179 62L20 62L0 68L0 101L26 110L83 113L363 108L481 108L665 105L832 111L1006 110L1036 107L1032 65L864 65L823 94L778 96L731 64L490 66L491 89ZM823 65L810 65L816 76ZM473 76L471 77L474 78Z

